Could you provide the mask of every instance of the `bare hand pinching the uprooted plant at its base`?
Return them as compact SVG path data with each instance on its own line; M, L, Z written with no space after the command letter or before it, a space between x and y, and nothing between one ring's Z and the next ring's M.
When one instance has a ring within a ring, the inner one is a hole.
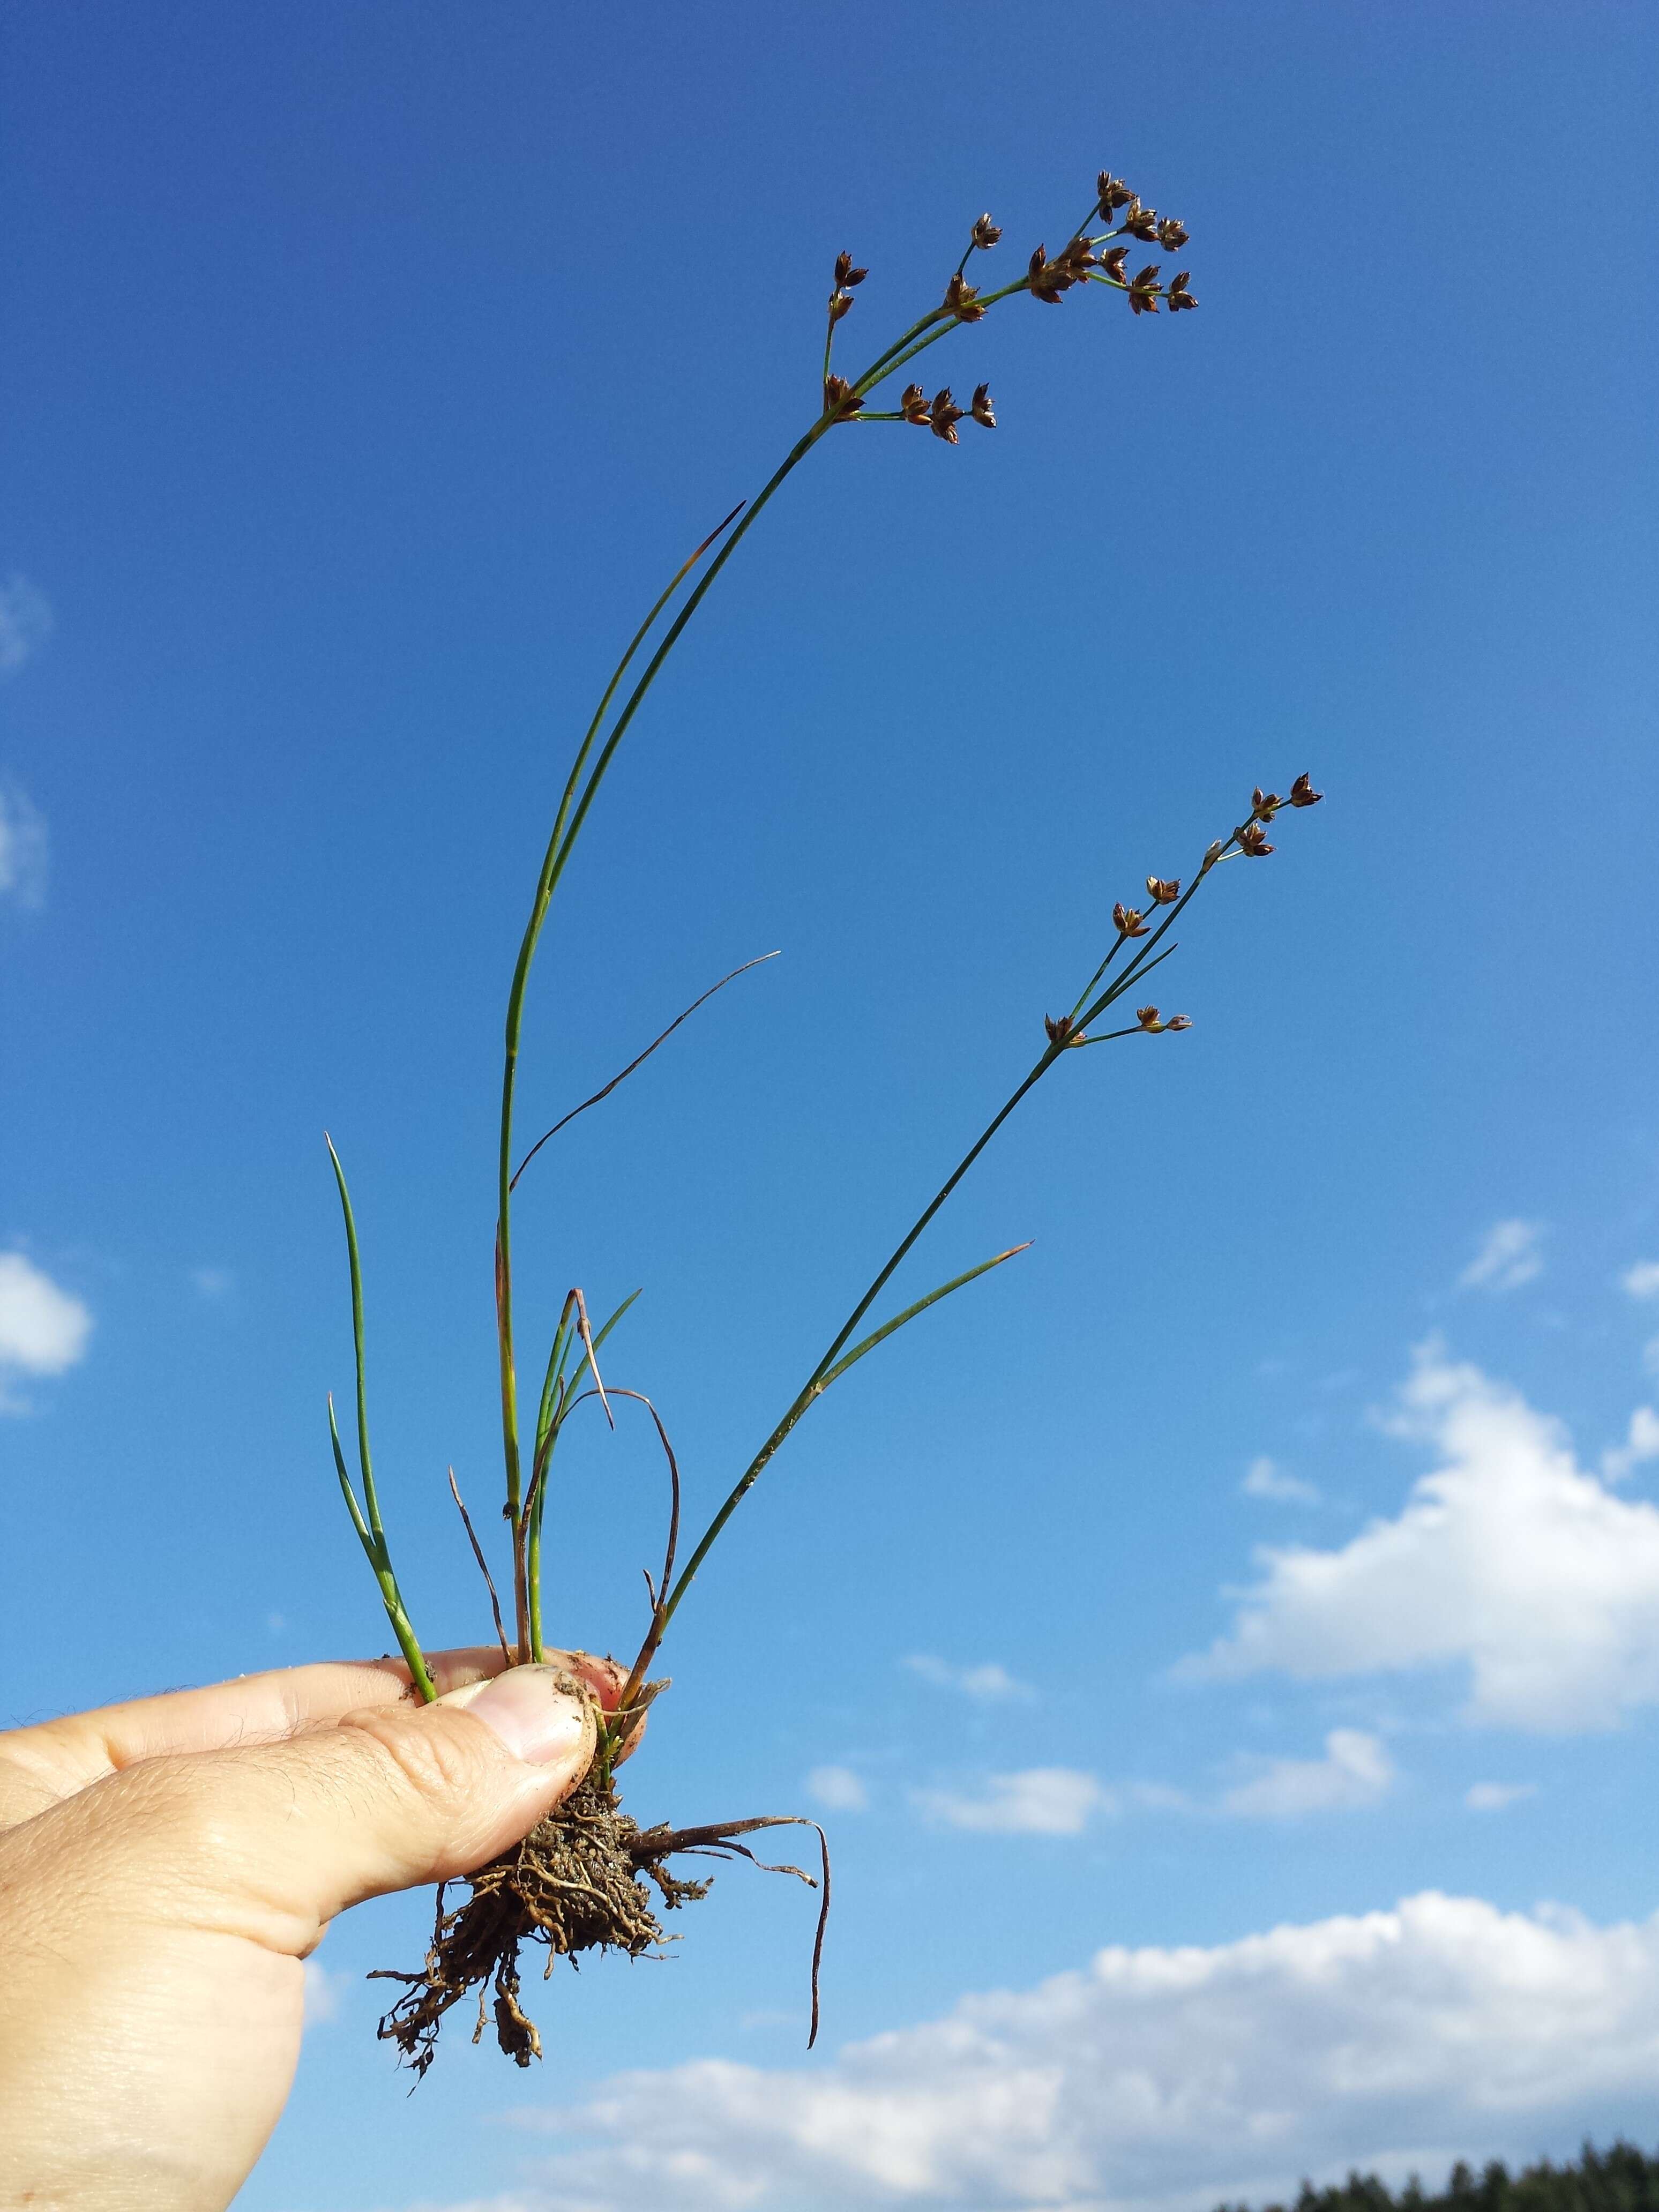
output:
M436 1655L434 1705L378 1659L0 1734L0 2212L230 2203L330 1920L487 1865L586 1774L622 1668L502 1666Z

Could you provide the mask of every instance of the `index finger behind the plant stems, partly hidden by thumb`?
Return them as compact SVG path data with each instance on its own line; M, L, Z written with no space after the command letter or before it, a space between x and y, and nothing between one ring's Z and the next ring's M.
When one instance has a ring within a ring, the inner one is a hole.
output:
M568 1666L613 1710L624 1670L588 1652L549 1652ZM502 1672L498 1646L431 1652L440 1692ZM349 1712L396 1705L409 1697L403 1659L349 1659L239 1674L201 1690L73 1712L35 1728L0 1734L0 1827L11 1827L117 1774L142 1759L219 1752L243 1743L283 1743L307 1728L332 1728Z

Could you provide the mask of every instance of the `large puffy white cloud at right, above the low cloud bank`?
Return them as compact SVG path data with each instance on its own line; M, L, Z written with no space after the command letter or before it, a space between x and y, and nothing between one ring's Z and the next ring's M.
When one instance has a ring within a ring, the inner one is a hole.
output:
M1232 1635L1181 1672L1460 1666L1467 1717L1500 1728L1615 1728L1659 1703L1659 1511L1584 1473L1559 1422L1438 1347L1396 1427L1442 1455L1405 1511L1336 1551L1261 1548Z

